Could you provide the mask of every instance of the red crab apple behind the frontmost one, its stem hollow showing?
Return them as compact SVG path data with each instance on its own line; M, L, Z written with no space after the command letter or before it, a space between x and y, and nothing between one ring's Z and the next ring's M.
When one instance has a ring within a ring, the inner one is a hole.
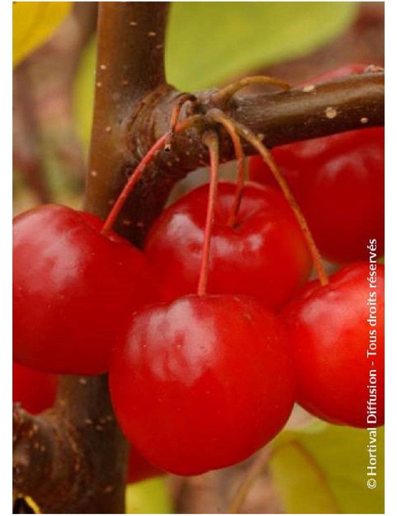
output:
M246 294L279 308L307 280L311 256L295 216L274 188L247 183L237 216L228 218L236 186L219 183L208 293ZM209 185L189 192L154 223L145 254L165 300L197 290Z

